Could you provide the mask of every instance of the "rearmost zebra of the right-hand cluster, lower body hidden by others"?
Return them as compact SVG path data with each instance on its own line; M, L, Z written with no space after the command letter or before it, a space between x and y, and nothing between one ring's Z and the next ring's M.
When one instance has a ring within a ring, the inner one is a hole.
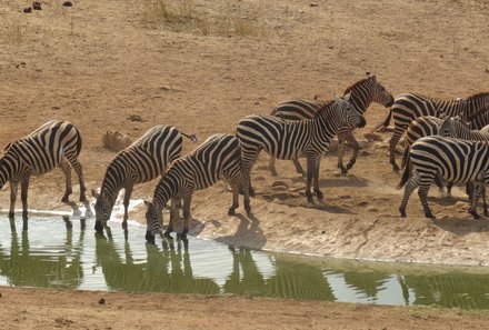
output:
M489 106L489 92L477 93L465 99L440 100L421 94L405 93L396 98L383 126L387 129L391 116L395 121L395 132L389 143L390 163L395 171L399 171L396 163L396 146L409 123L421 116L448 117L460 116L463 120ZM376 128L376 129L377 129Z

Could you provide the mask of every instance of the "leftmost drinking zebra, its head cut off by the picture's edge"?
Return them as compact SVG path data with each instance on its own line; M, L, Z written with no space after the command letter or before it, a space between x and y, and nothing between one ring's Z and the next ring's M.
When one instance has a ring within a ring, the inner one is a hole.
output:
M80 182L80 201L86 201L83 171L78 157L81 151L80 131L70 122L51 120L27 137L7 146L0 159L0 189L10 182L10 211L13 218L17 190L20 182L22 217L27 220L27 196L31 176L40 176L61 168L66 177L66 190L61 199L68 202L71 194L71 167Z

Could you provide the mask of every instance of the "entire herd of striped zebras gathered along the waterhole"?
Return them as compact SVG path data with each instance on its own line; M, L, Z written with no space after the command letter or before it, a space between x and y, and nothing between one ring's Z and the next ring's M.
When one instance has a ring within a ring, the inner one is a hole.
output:
M323 199L319 188L321 156L328 151L335 136L340 143L338 168L347 173L356 163L359 144L353 136L356 128L366 126L365 111L370 103L378 102L390 108L381 124L386 129L391 118L395 132L389 143L390 163L395 171L400 168L395 160L395 148L406 133L403 172L399 188L406 186L399 207L406 217L410 194L419 187L418 194L426 217L435 218L428 204L431 183L441 181L467 183L470 199L469 212L478 218L477 203L483 199L489 182L489 93L477 93L465 99L440 100L415 93L405 93L396 99L377 80L376 76L359 80L345 90L342 97L320 102L318 100L288 100L279 103L271 114L251 114L238 122L236 134L217 133L202 144L181 157L183 138L197 142L194 134L184 134L172 126L156 126L131 146L120 151L107 167L100 192L96 198L97 231L106 230L116 199L124 189L124 214L122 228L127 233L128 206L133 186L161 176L152 201L146 201L147 234L169 237L179 208L183 201L182 239L188 233L192 194L224 179L232 189L232 203L228 210L234 214L239 207L239 194L243 194L244 210L251 212L251 168L258 154L265 150L270 154L270 171L277 176L275 159L292 160L298 172L306 174L308 202ZM380 128L377 127L377 128ZM377 129L376 128L376 129ZM353 148L351 160L343 166L343 144ZM31 176L46 173L57 167L66 177L63 202L68 202L71 189L71 168L80 183L80 201L86 202L82 166L78 160L82 147L79 130L70 122L52 120L29 136L4 149L0 159L0 189L10 183L9 217L13 218L17 190L20 182L22 217L28 216L28 188ZM307 159L305 173L299 157ZM163 233L163 209L170 202L169 226Z

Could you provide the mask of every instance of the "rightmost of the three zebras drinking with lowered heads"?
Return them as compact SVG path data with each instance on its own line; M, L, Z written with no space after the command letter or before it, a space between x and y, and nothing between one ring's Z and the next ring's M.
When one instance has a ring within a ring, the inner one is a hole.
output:
M171 200L170 222L164 232L166 237L170 236L174 218L178 217L177 201L181 199L183 199L183 230L180 237L184 239L189 231L190 204L193 192L214 184L221 178L228 181L232 188L232 206L228 213L233 216L234 210L239 207L240 189L244 192L244 209L247 213L250 213L248 179L241 171L240 162L239 141L236 137L228 134L213 134L197 149L176 160L161 177L154 190L152 202L146 201L148 208L146 239L152 241L157 233L163 237L162 210Z

